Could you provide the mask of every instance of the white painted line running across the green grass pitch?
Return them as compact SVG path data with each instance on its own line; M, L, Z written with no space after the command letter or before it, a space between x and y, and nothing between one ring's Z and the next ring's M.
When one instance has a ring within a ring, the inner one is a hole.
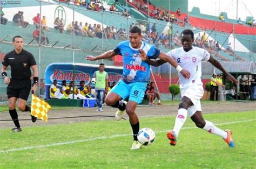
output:
M215 124L215 125L226 125L226 124L244 123L244 122L252 122L252 121L256 121L256 119L250 119L250 120L244 120L244 121L235 121L235 122L227 122L227 123L219 123L219 124ZM196 129L196 128L197 128L196 126L187 127L187 128L183 128L183 130L185 130L185 129ZM169 130L157 131L156 133L167 132L167 131L169 131ZM71 142L62 142L62 143L52 143L52 144L37 145L37 146L20 147L20 148L15 148L15 149L0 150L0 153L8 153L8 152L13 152L13 151L21 151L21 150L39 149L39 148L52 147L52 146L58 146L58 145L84 143L84 142L90 142L90 141L93 141L93 140L116 138L116 137L125 137L125 136L131 136L131 134L112 135L112 136L108 136L108 137L105 136L105 137L87 138L87 139L82 139L82 140L74 140L74 141L71 141Z

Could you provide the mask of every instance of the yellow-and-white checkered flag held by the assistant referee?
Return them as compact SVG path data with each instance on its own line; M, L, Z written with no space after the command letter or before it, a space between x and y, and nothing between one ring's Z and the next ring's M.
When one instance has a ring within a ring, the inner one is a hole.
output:
M41 98L32 94L31 112L30 112L32 116L35 116L47 122L47 119L48 119L47 112L50 109L51 109L51 106L47 102L43 101Z

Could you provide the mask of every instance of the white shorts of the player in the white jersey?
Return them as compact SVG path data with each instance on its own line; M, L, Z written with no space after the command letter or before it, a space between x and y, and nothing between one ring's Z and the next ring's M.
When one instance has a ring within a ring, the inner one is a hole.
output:
M181 89L181 97L186 96L190 98L194 104L187 109L187 114L191 117L196 111L202 111L200 99L204 95L203 85L194 85Z

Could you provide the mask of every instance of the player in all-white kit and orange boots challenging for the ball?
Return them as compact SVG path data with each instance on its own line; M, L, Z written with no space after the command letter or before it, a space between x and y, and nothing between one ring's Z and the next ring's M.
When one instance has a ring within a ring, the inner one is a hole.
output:
M179 74L181 102L179 103L178 115L175 120L174 128L167 132L167 138L169 138L171 145L176 145L179 131L185 123L188 114L198 128L223 137L228 146L234 147L234 141L231 137L232 132L230 130L221 130L212 122L204 120L202 116L200 98L204 94L204 89L203 83L201 82L201 62L210 62L226 75L227 80L234 83L238 83L238 81L206 50L194 46L192 47L193 41L194 33L191 30L184 30L181 33L181 43L183 47L174 49L167 53L170 57L177 60L178 64L182 68L187 69L191 74L189 79L184 79ZM153 66L159 66L166 62L161 59L150 60L145 56L145 54L142 55L142 58Z

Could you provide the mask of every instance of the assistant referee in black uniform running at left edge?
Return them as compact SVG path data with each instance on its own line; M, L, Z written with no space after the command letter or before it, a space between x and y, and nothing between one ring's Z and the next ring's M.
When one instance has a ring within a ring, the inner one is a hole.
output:
M21 36L15 36L12 38L12 45L14 45L14 51L7 53L2 61L2 76L4 83L8 85L7 96L9 102L9 112L14 121L15 127L11 130L14 132L22 131L21 125L19 125L18 114L15 109L15 105L18 100L18 108L21 111L30 111L30 107L26 105L29 93L31 90L31 70L33 71L33 85L32 93L36 93L38 82L38 69L36 60L33 55L23 49L23 38ZM11 67L11 78L8 78L6 69ZM36 122L36 117L31 116L31 121Z

